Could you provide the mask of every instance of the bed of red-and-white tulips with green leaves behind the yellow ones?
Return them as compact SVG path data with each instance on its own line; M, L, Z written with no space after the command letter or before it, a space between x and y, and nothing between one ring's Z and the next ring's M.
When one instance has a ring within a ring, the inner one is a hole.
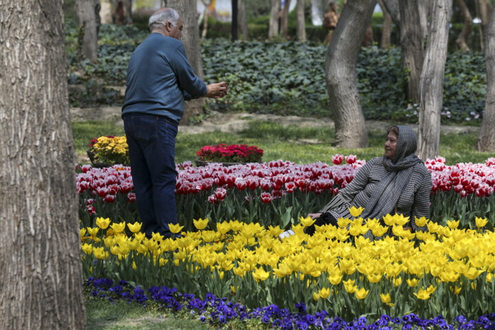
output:
M341 164L347 159L347 164ZM294 164L282 160L263 164L225 167L209 164L194 167L192 162L177 164L177 213L179 223L192 230L192 219L208 217L214 222L239 219L285 228L298 217L319 210L346 186L365 164L349 155L333 157L325 163ZM495 224L495 158L485 164L445 165L445 159L427 159L432 173L432 221L446 225L459 219L460 228L475 228L476 216ZM138 220L129 167L91 168L78 166L77 189L80 218L84 225L98 217ZM214 226L212 226L214 228Z

